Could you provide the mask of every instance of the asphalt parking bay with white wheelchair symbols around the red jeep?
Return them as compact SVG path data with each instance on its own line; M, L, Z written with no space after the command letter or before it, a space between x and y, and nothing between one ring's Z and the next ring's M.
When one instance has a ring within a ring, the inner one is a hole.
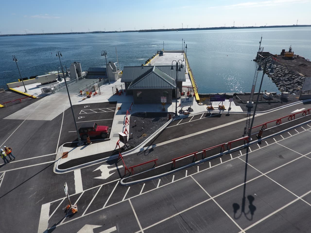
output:
M104 103L88 103L74 105L73 111L77 121L77 127L85 122L96 122L98 125L108 126L111 129L114 119L114 112L116 110L117 102ZM77 141L77 132L72 120L72 111L70 108L64 112L64 120L62 124L62 131L60 136L60 145ZM110 134L107 138L110 137ZM91 138L93 143L102 141L102 138ZM68 144L66 144L68 146Z

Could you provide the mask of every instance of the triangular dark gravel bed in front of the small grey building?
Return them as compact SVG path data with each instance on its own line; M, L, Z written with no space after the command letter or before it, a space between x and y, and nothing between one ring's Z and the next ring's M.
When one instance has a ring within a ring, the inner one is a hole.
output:
M172 114L172 117L173 116L174 114ZM128 144L132 148L137 147L150 135L156 132L156 130L163 126L167 122L168 117L169 113L167 112L147 112L147 116L141 112L133 113L130 116L128 132L129 135L133 133L133 138L128 139ZM136 121L136 126L134 121Z

